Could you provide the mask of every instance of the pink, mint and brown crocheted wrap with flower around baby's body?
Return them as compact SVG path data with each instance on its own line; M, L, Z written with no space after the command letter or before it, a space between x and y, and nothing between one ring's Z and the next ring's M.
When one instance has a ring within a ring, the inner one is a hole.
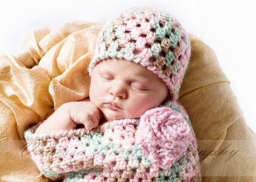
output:
M197 143L188 117L178 107L157 107L141 118L85 128L25 132L38 169L63 181L201 181Z

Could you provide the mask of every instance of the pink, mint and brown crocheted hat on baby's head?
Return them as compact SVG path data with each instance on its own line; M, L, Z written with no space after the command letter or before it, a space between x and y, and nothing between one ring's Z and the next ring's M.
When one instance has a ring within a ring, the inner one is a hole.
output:
M158 75L169 88L170 100L176 100L190 53L190 39L175 17L153 7L135 7L103 26L89 74L103 59L134 61Z

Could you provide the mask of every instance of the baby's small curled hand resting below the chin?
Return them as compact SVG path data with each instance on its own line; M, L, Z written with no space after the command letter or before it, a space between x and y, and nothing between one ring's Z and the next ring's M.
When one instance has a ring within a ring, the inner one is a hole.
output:
M87 130L98 126L103 115L100 109L89 99L80 102L69 102L68 104L70 117L74 123L83 124Z

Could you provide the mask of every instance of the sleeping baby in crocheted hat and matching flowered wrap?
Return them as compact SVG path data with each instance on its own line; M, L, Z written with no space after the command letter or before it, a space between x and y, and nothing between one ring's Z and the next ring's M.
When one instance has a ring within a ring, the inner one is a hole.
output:
M89 97L25 132L38 169L63 181L201 181L193 127L177 102L190 53L170 13L132 8L108 21Z

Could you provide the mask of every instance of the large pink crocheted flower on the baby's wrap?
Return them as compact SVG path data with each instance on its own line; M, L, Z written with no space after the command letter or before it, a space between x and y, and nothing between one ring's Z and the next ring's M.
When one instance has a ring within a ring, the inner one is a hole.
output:
M158 107L146 111L135 133L136 145L150 161L169 169L187 150L190 126L172 108Z

